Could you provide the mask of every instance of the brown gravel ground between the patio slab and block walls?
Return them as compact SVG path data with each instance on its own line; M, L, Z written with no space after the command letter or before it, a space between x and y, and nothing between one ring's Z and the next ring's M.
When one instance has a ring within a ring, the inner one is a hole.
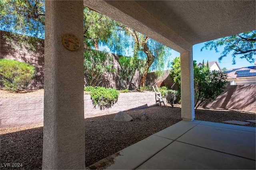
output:
M138 118L142 111L148 114L149 118L146 121L141 121ZM84 120L86 166L182 120L179 105L174 108L170 106L149 107L147 109L125 111L125 113L132 116L134 121L113 121L115 114ZM195 111L195 115L197 120L212 122L256 119L256 113L254 112L226 109L200 108ZM255 127L255 123L250 123L247 126ZM1 167L1 169L42 169L43 127L38 125L34 127L0 129L0 134L1 164L22 164L22 167Z

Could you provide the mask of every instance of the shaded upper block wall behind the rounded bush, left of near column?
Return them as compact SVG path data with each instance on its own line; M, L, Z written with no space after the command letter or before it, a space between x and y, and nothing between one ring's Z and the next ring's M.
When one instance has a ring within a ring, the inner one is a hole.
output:
M3 39L4 31L0 31L0 59L12 59L31 64L35 67L35 76L29 83L29 88L39 89L44 87L44 40L42 46L36 47L34 53L26 49L14 49L10 43ZM1 81L0 81L1 82ZM2 84L0 83L0 87Z

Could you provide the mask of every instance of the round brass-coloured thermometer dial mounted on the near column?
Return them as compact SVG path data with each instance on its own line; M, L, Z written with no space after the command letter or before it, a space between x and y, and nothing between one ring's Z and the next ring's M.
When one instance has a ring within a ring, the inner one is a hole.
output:
M80 40L76 35L67 33L62 37L62 44L69 51L76 51L80 47Z

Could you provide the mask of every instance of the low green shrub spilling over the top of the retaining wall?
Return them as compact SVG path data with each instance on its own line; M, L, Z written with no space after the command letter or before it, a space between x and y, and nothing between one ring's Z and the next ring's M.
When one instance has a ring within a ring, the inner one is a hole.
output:
M105 87L88 87L94 108L96 106L100 109L112 107L118 100L119 92L116 89Z

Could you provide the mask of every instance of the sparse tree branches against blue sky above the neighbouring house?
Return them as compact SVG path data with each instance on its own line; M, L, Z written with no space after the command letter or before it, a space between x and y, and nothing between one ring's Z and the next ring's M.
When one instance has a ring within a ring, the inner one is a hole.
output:
M226 57L229 53L232 53L232 64L236 64L236 57L240 59L246 59L249 63L254 63L256 55L256 30L223 37L208 41L201 48L215 50L218 53L218 47L224 46L224 50L221 56L218 58L219 61Z

